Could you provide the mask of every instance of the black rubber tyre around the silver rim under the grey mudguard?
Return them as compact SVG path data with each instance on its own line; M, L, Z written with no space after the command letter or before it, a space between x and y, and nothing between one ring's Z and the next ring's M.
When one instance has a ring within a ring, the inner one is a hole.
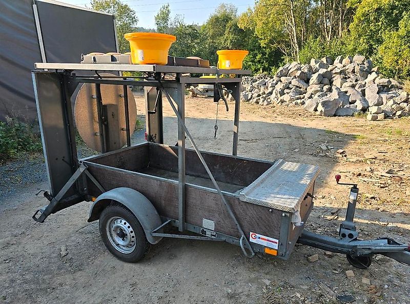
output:
M124 218L131 224L134 230L136 246L134 251L132 251L131 253L125 254L119 252L115 249L115 247L111 244L110 240L108 239L106 225L107 221L113 216L120 216ZM103 210L103 212L101 212L101 215L99 217L99 233L107 249L121 261L135 263L139 261L141 258L145 257L150 249L150 243L148 242L147 237L145 236L144 229L142 229L139 220L129 209L127 209L124 205L121 204L109 205L107 208Z

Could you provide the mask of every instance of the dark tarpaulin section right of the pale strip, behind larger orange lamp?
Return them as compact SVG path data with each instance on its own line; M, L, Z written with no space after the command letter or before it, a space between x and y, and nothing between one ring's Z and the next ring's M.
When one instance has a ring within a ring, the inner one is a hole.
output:
M79 63L81 53L115 52L112 15L37 1L49 63Z

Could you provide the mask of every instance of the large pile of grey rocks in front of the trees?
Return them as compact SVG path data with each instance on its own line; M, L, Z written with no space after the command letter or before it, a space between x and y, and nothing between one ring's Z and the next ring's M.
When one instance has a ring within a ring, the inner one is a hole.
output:
M369 120L410 115L410 94L403 83L384 78L371 59L355 55L297 62L275 76L243 77L241 99L259 105L303 106L323 116L368 113Z

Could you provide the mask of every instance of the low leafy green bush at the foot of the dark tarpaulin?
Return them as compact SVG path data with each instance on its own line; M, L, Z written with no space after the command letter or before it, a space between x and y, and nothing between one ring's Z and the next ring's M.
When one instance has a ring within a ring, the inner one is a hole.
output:
M0 164L21 153L41 150L42 143L39 135L33 132L33 126L12 118L0 121Z

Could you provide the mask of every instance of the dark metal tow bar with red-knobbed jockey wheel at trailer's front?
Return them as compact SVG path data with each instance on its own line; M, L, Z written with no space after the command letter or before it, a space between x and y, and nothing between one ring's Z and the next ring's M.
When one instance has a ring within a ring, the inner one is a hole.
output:
M339 183L340 175L336 175L335 178L338 185L352 186L350 188L346 218L340 224L339 238L304 231L300 235L298 243L345 254L347 261L352 266L360 269L366 269L372 264L372 256L374 254L382 254L403 264L410 265L409 245L401 244L388 237L373 240L359 240L357 238L358 232L353 220L359 188L357 188L357 184Z

